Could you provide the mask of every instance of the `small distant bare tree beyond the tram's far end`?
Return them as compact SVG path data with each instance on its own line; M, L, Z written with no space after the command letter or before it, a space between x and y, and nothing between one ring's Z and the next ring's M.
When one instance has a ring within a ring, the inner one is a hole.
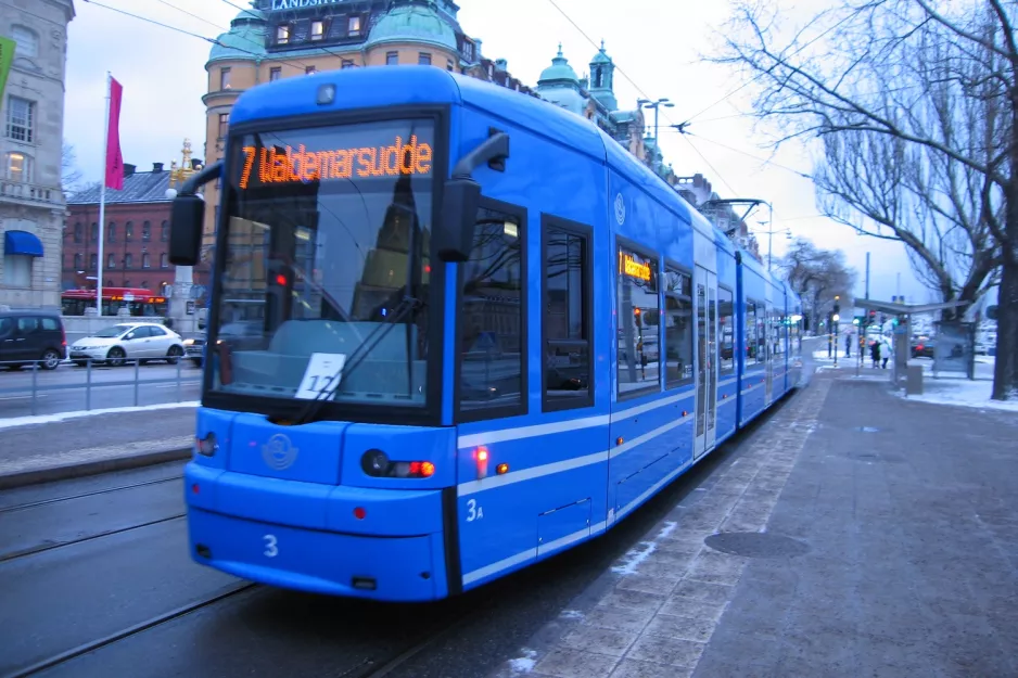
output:
M820 250L809 240L797 238L778 261L792 291L802 299L806 329L816 331L820 320L832 310L835 296L849 306L856 273L845 265L841 252Z

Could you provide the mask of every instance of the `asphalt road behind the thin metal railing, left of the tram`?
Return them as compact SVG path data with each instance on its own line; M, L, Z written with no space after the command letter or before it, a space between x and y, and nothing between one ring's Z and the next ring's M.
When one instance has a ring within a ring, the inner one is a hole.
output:
M0 370L0 418L198 400L201 380L201 370L189 361L137 369L61 364L52 371Z

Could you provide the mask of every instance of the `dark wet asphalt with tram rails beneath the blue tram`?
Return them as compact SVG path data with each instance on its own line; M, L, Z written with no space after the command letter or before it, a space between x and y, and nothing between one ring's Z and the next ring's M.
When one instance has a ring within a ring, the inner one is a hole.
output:
M746 437L606 536L428 605L240 588L192 563L179 463L0 492L0 675L71 652L34 675L483 676L578 594L611 585L609 565L738 459Z

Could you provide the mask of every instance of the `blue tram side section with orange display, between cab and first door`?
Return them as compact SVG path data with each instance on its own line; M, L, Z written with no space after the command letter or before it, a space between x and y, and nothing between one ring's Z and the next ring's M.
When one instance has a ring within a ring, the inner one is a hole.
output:
M610 163L613 152L622 153L609 148ZM692 462L692 230L679 216L682 204L674 197L670 204L667 193L641 179L610 170L615 247L605 277L614 283L615 319L609 359L611 521L626 516ZM690 324L685 333L670 333L675 322Z

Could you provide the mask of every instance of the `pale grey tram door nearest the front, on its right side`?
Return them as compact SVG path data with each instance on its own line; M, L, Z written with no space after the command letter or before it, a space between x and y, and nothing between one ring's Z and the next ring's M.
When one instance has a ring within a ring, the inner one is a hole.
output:
M714 447L717 423L717 276L697 267L697 433L693 457Z

